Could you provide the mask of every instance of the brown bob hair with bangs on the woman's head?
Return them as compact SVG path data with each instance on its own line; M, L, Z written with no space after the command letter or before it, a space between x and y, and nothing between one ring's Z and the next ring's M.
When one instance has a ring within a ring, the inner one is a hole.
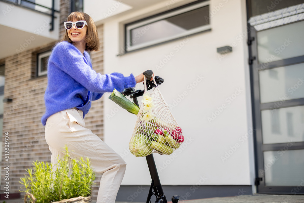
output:
M72 12L68 17L66 21L73 21L73 19L77 20L85 20L88 23L88 29L86 33L86 51L98 51L99 50L99 38L97 33L96 25L88 14L84 12ZM72 40L67 34L67 30L65 30L65 35L62 39L62 41L68 41L73 44Z

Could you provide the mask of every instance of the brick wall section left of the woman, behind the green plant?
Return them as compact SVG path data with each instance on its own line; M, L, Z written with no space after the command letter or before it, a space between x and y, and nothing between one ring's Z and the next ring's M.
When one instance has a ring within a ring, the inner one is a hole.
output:
M40 122L45 112L44 91L47 78L35 78L33 70L36 69L37 51L50 49L52 45L54 44L5 58L4 97L12 99L12 102L4 103L3 114L3 132L9 132L10 193L19 192L20 177L23 177L25 169L32 166L32 161L50 159L44 127ZM3 166L2 174L5 174ZM3 176L1 183L4 183Z

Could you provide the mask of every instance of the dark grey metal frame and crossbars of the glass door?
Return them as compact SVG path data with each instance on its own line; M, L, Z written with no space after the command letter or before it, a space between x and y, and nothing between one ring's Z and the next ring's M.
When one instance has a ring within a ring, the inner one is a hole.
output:
M299 21L297 21L299 22ZM294 23L297 23L294 22ZM304 149L304 142L290 142L278 144L263 144L262 143L262 124L261 124L261 110L279 109L283 107L294 107L304 105L304 98L285 100L279 103L260 103L260 87L259 75L260 70L267 70L281 66L293 65L304 62L304 55L288 58L280 61L270 61L269 63L259 64L257 59L257 31L253 26L248 26L248 49L249 49L249 68L250 68L250 86L251 86L251 102L252 115L254 127L254 154L255 154L255 184L257 186L257 193L263 194L304 194L304 183L298 186L266 186L264 178L264 151L280 151ZM285 26L285 25L282 25ZM270 28L271 29L271 28ZM275 105L276 104L276 105ZM280 105L279 105L280 104ZM277 107L278 106L278 107ZM301 180L300 180L301 181ZM300 187L300 188L299 188Z

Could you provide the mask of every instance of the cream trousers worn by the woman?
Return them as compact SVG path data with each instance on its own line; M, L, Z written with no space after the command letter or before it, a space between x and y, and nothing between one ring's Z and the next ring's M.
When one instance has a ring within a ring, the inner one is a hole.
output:
M45 139L52 152L51 163L64 156L67 145L72 159L88 157L96 173L103 173L97 203L115 203L126 170L126 162L92 131L85 128L83 114L76 108L53 114L47 119Z

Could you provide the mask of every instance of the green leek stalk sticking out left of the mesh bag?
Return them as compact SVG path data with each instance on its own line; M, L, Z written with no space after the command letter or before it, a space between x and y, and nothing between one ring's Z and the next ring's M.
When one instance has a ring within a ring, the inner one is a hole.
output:
M117 103L119 106L121 106L123 109L126 109L132 114L138 114L139 107L128 100L123 94L121 94L117 89L114 89L112 94L109 96L109 99L113 102Z

